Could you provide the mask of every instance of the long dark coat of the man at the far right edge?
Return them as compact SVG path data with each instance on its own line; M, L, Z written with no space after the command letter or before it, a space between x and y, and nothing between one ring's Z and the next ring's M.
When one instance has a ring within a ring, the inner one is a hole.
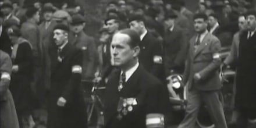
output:
M236 98L237 107L254 109L256 105L256 34L247 38L248 31L240 34L239 40L239 57L237 59L236 72Z

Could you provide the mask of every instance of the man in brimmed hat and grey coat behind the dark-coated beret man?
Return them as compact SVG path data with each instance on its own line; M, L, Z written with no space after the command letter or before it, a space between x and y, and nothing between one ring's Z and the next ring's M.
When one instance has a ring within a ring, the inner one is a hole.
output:
M89 37L84 33L86 20L80 14L72 16L72 23L70 24L71 33L69 34L70 44L80 48L83 51L83 80L94 79L95 62L97 58L97 51L93 37Z

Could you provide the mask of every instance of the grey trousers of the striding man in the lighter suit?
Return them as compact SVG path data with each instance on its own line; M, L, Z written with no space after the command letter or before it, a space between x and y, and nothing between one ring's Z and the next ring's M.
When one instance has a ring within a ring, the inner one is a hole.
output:
M207 105L215 128L227 128L223 105L219 100L219 91L198 91L195 88L187 94L185 118L178 128L193 128L202 105Z

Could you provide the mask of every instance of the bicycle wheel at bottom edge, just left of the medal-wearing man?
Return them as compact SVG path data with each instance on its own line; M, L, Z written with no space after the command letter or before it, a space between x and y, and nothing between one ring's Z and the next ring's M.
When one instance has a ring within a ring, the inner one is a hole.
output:
M88 105L87 115L88 126L95 128L102 128L104 126L104 115L97 105Z

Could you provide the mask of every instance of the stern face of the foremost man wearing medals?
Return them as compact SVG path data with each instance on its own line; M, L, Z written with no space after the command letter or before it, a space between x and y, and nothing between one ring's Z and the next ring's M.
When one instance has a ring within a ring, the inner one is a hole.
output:
M130 37L127 34L117 33L113 35L111 42L111 58L113 66L126 66L129 65L136 56L134 48L129 45Z

